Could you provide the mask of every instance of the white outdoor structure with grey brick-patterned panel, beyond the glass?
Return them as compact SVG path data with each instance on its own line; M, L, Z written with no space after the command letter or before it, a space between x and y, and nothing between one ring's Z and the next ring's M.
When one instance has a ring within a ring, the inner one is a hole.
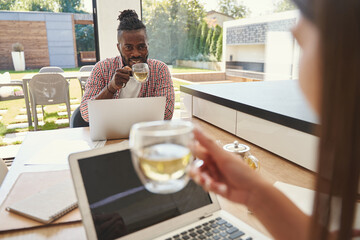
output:
M291 28L298 16L294 10L225 22L226 69L259 72L262 80L296 79L300 50Z

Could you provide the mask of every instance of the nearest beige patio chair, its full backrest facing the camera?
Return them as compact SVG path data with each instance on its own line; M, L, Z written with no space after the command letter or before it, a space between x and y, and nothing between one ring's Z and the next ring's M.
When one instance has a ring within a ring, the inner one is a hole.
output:
M34 129L37 130L37 105L53 105L65 103L70 122L69 83L59 73L39 73L29 81L30 102L34 118ZM44 109L43 109L44 116Z

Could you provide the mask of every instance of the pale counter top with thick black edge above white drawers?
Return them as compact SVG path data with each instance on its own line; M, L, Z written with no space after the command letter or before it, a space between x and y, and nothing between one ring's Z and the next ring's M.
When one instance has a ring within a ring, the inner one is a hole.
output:
M182 85L180 91L309 134L318 124L296 80Z

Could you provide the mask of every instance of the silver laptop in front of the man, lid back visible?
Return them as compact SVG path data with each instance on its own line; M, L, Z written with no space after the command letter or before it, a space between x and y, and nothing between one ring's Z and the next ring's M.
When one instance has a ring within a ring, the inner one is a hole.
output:
M164 119L166 97L101 99L88 102L93 141L128 138L138 122Z

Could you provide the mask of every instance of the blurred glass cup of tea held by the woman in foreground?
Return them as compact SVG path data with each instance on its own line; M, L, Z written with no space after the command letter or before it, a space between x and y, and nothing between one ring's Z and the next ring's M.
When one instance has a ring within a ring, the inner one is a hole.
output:
M152 193L169 194L183 189L193 155L194 126L189 121L154 121L134 124L129 146L134 168Z

